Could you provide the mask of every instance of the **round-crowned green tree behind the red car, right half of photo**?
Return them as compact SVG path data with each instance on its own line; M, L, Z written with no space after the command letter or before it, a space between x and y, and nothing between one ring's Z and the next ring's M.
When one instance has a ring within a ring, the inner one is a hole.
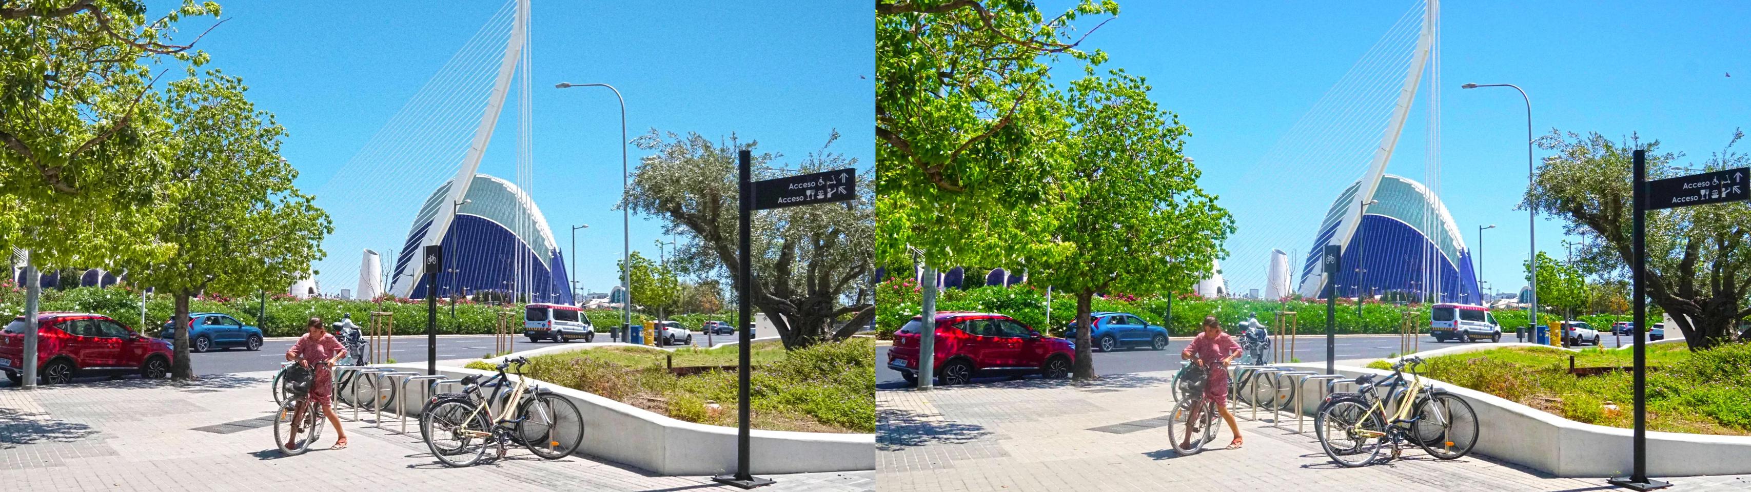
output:
M1077 298L1077 326L1089 326L1098 292L1161 294L1208 273L1234 231L1227 210L1198 187L1182 154L1187 130L1149 100L1143 77L1112 70L1070 86L1070 131L1058 138L1068 165L1054 177L1070 203L1052 229L1068 252L1040 266L1040 278ZM1075 376L1094 376L1089 329L1077 331Z

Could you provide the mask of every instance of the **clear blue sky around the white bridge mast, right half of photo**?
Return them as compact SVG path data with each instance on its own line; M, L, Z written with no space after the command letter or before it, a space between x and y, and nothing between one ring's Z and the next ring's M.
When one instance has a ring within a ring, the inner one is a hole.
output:
M1061 9L1065 2L1045 2ZM1259 175L1320 173L1261 163L1283 133L1369 49L1413 2L1122 2L1122 14L1084 47L1105 49L1108 68L1149 77L1152 98L1180 116L1201 184L1240 217L1294 210L1324 215L1338 191L1261 189ZM1523 284L1527 212L1513 210L1525 186L1525 107L1513 89L1459 89L1511 82L1532 98L1534 131L1641 133L1700 163L1751 130L1751 4L1744 2L1446 2L1443 18L1443 201L1466 245L1485 235L1481 280L1501 291ZM1084 19L1082 23L1093 25ZM1054 72L1059 86L1077 72ZM1726 77L1732 74L1732 77ZM1389 173L1422 177L1425 138L1418 95ZM1751 142L1740 142L1739 151ZM1537 151L1537 156L1548 152ZM1341 170L1345 184L1362 163ZM1282 182L1283 179L1266 180ZM1311 229L1273 231L1271 245L1233 256L1229 278L1262 287L1264 252L1311 243ZM1541 219L1537 245L1562 257L1560 222Z

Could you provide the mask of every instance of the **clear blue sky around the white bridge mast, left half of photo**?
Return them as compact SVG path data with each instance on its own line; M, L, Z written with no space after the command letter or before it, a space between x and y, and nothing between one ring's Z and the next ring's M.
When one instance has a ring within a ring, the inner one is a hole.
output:
M152 12L172 5L175 2L152 2ZM212 67L242 75L250 86L250 100L289 130L284 156L301 172L299 186L315 191L503 2L431 5L440 4L224 2L229 21L200 47L212 54ZM184 28L196 25L205 28L205 19ZM786 159L781 161L795 163L839 130L842 137L833 149L868 168L874 161L874 81L867 79L874 72L872 30L868 5L851 2L536 0L531 28L534 198L564 249L571 247L571 224L590 224L578 231L581 285L606 291L618 284L615 261L622 221L620 212L611 210L620 187L618 105L606 89L560 91L553 89L555 82L620 88L627 100L629 137L650 128L711 138L734 131L756 138L760 149L783 152ZM513 116L508 109L501 119L482 172L511 179ZM632 166L639 156L634 147ZM404 184L382 177L352 186ZM420 187L422 196L431 189ZM415 210L385 212L406 219L369 242L399 247ZM658 236L658 221L632 217L634 250L657 257L653 242ZM322 268L357 275L357 250L329 249L329 257Z

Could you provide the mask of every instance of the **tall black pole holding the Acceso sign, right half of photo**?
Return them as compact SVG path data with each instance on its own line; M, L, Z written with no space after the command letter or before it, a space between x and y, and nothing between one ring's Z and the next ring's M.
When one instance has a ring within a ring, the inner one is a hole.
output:
M1642 271L1648 268L1648 238L1646 238L1646 215L1648 208L1653 207L1653 196L1648 193L1648 154L1637 149L1634 158L1634 180L1630 182L1630 205L1634 205L1634 229L1630 231L1630 254L1634 259L1634 271L1630 282L1630 303L1634 303L1635 313L1635 438L1634 438L1634 471L1628 478L1618 476L1606 480L1611 485L1627 487L1634 490L1653 490L1672 487L1672 483L1649 480L1648 478L1648 334L1644 333L1648 326L1648 303L1646 292L1646 275ZM1670 198L1665 200L1667 203ZM1665 208L1665 207L1662 207Z

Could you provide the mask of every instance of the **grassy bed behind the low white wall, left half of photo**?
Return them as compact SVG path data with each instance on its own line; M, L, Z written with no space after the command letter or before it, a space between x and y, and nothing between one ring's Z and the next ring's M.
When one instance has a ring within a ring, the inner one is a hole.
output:
M749 413L755 429L876 432L876 347L868 338L784 350L779 341L749 345ZM735 345L681 348L604 347L529 359L525 373L672 418L734 427L737 373L674 376L674 366L735 366ZM468 368L492 369L475 361Z

